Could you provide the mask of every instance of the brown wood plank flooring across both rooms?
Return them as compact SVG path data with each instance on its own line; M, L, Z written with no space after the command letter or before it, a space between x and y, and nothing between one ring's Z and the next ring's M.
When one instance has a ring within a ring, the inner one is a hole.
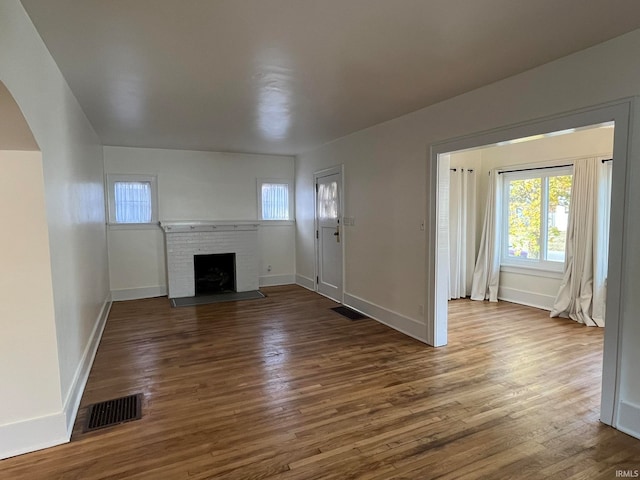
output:
M262 300L113 305L72 441L1 479L610 479L640 440L598 421L602 330L450 302L433 349L296 286ZM85 407L143 418L83 434Z

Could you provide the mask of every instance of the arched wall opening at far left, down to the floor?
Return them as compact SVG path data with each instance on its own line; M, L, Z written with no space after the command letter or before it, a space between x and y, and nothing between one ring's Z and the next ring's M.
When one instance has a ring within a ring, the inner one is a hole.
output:
M0 458L66 441L42 153L0 82ZM35 439L40 439L37 444Z

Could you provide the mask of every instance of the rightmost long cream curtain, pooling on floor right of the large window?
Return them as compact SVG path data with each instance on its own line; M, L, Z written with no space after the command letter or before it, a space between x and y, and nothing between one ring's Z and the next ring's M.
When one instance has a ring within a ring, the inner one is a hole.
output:
M611 165L587 158L573 168L564 276L551 316L604 327Z

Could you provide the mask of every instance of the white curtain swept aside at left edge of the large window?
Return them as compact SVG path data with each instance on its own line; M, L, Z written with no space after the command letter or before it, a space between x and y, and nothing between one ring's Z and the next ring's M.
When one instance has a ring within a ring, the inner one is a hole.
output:
M471 300L498 301L500 280L500 198L501 183L497 170L489 172L489 188L478 260L473 271Z

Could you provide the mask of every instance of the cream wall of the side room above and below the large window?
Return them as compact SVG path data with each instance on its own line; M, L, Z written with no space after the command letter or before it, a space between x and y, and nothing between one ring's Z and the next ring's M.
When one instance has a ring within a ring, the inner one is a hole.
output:
M613 128L594 128L571 134L544 137L523 143L499 145L456 153L451 158L477 157L478 168L478 218L476 252L480 247L482 221L487 201L488 172L494 168L518 165L562 165L589 156L611 157L613 152ZM466 156L466 157L464 157ZM560 288L561 273L536 272L506 267L500 273L498 298L551 310Z

